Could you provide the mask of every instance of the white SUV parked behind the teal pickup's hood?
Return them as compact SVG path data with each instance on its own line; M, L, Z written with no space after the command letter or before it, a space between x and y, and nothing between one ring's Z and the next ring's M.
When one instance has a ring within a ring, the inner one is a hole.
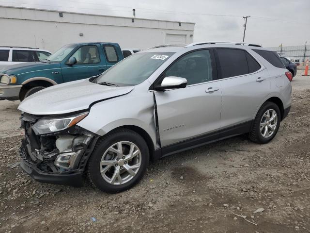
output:
M41 62L50 54L48 50L29 47L0 47L0 68L23 62Z

